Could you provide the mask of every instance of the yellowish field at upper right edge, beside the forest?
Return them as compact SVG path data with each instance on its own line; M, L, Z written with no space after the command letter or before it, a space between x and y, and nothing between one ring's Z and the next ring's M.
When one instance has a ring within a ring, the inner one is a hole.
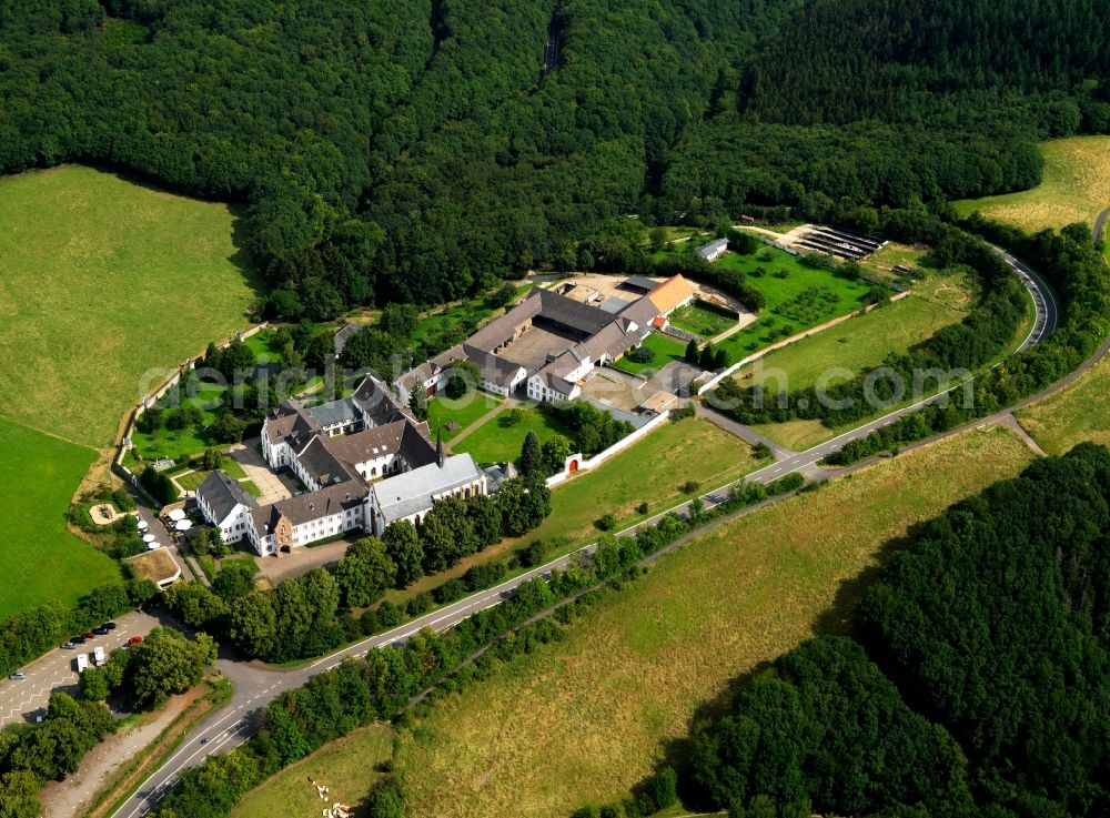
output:
M1110 206L1110 137L1071 137L1041 145L1045 179L1032 190L956 202L962 213L981 211L991 219L1036 232L1072 222L1093 224Z

